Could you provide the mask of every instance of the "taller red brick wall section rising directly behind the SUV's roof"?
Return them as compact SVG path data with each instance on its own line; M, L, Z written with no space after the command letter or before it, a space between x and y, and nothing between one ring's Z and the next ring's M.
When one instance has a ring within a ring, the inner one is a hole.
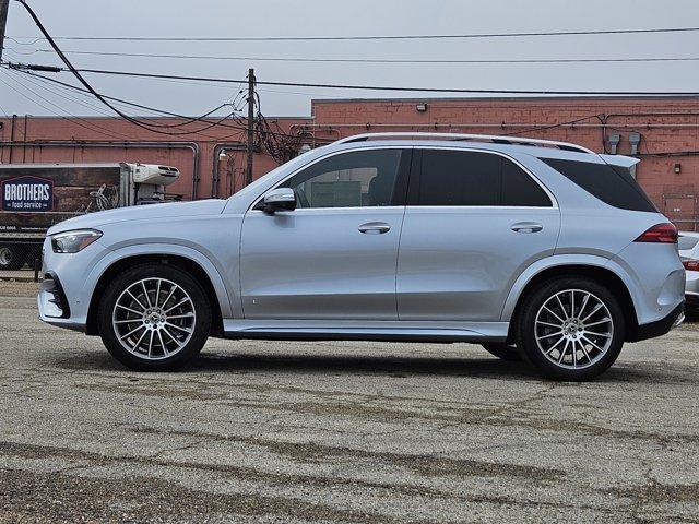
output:
M423 103L427 110L417 111ZM600 153L606 123L607 134L621 135L619 154L630 152L629 133L641 134L637 179L661 211L673 219L699 218L699 98L315 100L313 116L309 129L319 136L382 131L522 134Z

